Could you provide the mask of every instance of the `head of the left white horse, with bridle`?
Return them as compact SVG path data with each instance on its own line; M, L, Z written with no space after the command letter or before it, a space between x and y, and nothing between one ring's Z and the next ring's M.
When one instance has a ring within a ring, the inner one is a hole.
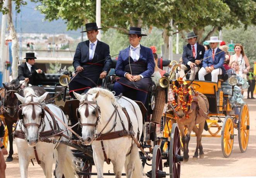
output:
M35 146L38 142L39 127L41 126L42 118L44 117L44 109L41 102L46 98L48 92L41 97L37 97L32 88L25 88L25 97L15 93L17 98L22 103L22 108L19 110L19 119L23 119L22 123L26 129L26 141L30 146Z

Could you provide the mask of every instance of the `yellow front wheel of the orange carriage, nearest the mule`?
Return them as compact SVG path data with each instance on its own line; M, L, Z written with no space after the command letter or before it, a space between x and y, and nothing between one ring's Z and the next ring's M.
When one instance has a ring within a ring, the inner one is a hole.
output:
M223 155L228 158L232 152L234 144L234 126L229 115L225 117L221 131L221 149Z

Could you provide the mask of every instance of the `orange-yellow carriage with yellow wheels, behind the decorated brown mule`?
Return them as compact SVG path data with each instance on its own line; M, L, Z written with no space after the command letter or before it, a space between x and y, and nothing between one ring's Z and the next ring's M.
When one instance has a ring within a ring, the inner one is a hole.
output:
M192 84L195 91L204 94L209 102L209 114L206 120L208 128L205 129L209 134L202 136L220 137L222 153L228 158L232 153L234 136L237 135L239 148L244 153L249 141L249 109L246 104L232 105L230 102L235 94L234 86L238 82L237 77L219 75L218 82L212 82L210 75L205 78L206 81L194 80ZM167 117L173 118L173 113L167 114ZM237 129L237 132L234 129ZM188 127L185 126L184 132L187 131Z

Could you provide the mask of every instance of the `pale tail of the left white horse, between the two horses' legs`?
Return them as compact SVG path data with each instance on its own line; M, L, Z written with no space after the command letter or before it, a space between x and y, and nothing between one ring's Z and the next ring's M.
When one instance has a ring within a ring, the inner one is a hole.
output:
M76 178L78 169L75 166L75 163L73 162L73 160L74 160L73 153L71 149L67 148L66 159L64 163L64 171L63 171L63 174L65 177Z

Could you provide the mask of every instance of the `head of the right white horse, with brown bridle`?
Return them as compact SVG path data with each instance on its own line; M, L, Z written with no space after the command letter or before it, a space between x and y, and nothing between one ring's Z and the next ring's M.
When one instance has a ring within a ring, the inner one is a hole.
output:
M82 138L85 145L92 143L94 139L94 131L99 121L100 111L97 105L97 97L99 92L85 95L80 95L73 92L75 97L80 101L79 108L77 109L77 115L80 117L80 125L82 127Z

